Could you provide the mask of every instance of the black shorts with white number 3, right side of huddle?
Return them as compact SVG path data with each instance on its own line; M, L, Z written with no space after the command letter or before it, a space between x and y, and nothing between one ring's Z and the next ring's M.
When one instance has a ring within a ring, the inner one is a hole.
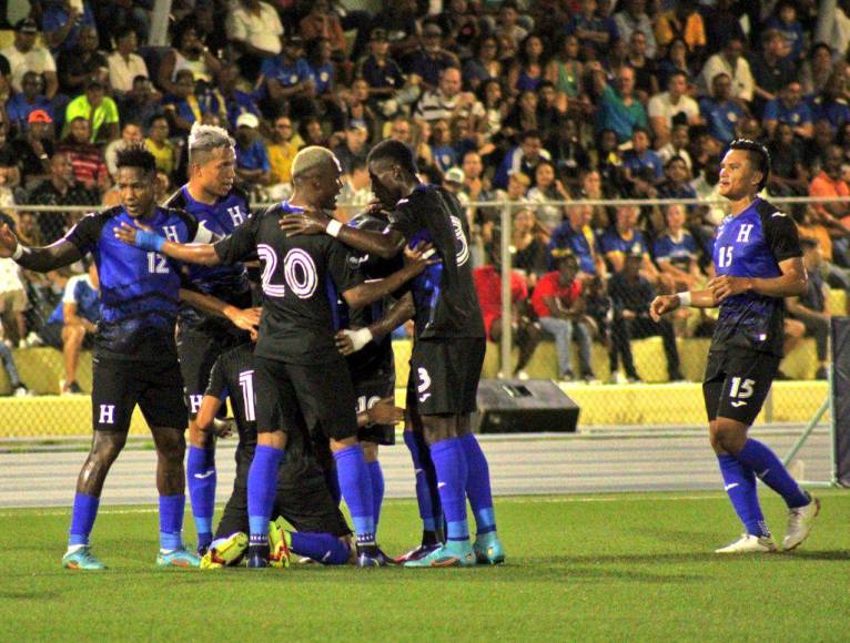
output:
M474 412L485 350L484 337L415 341L407 408L421 416Z

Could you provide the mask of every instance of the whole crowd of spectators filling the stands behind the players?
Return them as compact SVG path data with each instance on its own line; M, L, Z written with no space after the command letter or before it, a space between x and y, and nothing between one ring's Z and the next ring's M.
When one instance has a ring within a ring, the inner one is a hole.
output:
M686 310L656 323L648 304L712 274L722 208L584 200L717 198L736 137L768 145L767 194L850 195L850 3L817 41L816 0L385 0L375 13L333 0L175 0L168 47L148 43L152 7L33 0L29 18L6 24L0 208L24 243L54 242L81 216L27 205L117 204L115 156L131 143L154 154L164 201L186 181L195 122L233 134L237 180L256 202L291 193L300 149L330 147L350 214L371 200L366 154L395 139L423 180L467 206L490 339L503 231L487 202L509 203L520 377L547 334L561 378L596 379L598 340L613 378L637 381L630 343L658 335L680 380L676 337L710 336L712 319ZM850 287L850 205L790 214L817 278L789 302L786 346L814 336L826 377L826 288ZM41 344L67 346L62 390L79 391L73 356L97 323L82 314L97 275L72 278L83 271L0 261L0 357L17 394L27 389L8 348Z

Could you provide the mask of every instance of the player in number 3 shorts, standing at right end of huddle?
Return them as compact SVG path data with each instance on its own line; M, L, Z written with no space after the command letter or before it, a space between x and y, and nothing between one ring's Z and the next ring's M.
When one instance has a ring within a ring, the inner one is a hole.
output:
M392 208L386 231L343 226L316 211L293 213L282 226L290 234L327 233L365 253L388 258L406 245L434 244L441 263L413 284L416 306L407 429L424 432L437 473L447 542L411 567L473 565L505 560L496 532L487 459L470 432L470 414L484 363L484 323L469 264L469 231L457 200L416 177L411 150L398 141L378 143L368 156L372 190ZM469 541L466 497L475 513L475 547Z

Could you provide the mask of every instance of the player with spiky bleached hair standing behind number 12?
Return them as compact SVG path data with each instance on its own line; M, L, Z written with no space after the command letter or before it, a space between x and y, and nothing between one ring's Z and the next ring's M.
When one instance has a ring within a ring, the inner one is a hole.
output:
M250 216L247 195L233 186L236 153L226 130L195 123L189 135L189 183L165 203L186 211L215 238L232 233ZM189 266L192 287L239 308L251 306L247 272L242 263L232 266ZM247 339L244 331L192 306L181 306L178 320L178 354L189 407L189 455L186 481L198 532L198 553L203 555L212 540L215 506L215 438L200 431L194 418L210 370L222 353Z

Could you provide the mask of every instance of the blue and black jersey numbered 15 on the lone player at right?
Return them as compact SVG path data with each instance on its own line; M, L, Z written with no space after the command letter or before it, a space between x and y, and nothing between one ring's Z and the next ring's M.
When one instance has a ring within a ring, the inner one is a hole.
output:
M717 229L714 261L717 275L770 279L781 276L779 263L802 256L791 217L757 198ZM749 348L782 355L785 300L742 293L720 304L711 350Z

